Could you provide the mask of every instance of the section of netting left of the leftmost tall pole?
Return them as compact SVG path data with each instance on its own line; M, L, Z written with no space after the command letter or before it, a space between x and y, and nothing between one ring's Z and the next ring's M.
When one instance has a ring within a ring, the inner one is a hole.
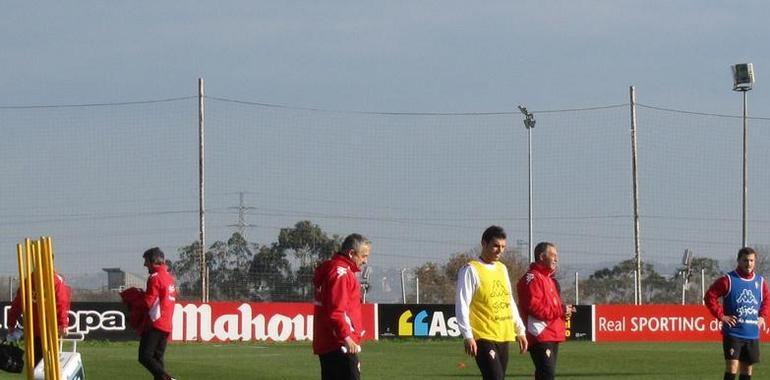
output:
M142 274L142 252L195 240L197 99L0 109L0 268L15 246L53 237L74 287L107 285L102 268Z

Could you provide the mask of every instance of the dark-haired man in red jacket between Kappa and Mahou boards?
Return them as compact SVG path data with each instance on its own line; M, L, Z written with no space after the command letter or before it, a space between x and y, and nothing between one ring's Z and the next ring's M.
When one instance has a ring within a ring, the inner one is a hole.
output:
M168 273L166 257L160 248L150 248L142 255L144 266L150 273L144 303L147 306L148 322L139 341L139 363L152 373L155 380L173 379L166 373L163 356L166 341L171 333L176 303L174 277Z

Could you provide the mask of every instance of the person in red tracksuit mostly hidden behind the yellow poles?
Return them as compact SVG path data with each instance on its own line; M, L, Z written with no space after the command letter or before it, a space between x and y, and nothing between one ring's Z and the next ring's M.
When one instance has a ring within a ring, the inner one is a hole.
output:
M34 282L32 283L34 286ZM70 287L64 282L64 278L58 273L53 274L53 288L54 298L56 300L56 324L58 325L59 336L64 336L67 333L67 325L69 324L69 311L70 311ZM40 308L37 307L37 292L32 289L32 303L35 307L32 309L34 330L27 331L27 334L32 334L35 341L35 365L37 366L41 360L43 360L43 345L40 342ZM16 291L16 297L11 303L11 310L8 311L8 335L13 335L16 330L16 323L19 321L21 315L21 293Z

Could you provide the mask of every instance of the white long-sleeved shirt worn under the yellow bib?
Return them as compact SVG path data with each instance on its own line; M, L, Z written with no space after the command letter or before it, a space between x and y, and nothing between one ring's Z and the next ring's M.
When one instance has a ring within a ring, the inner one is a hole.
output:
M484 266L493 267L494 264L485 263L482 260L477 260ZM511 315L513 316L513 323L516 326L516 334L518 336L524 336L525 328L524 322L519 316L519 310L516 307L516 301L513 299L513 286L511 285L511 279L508 277L508 271L505 271L505 281L508 282L510 290L510 305ZM460 333L463 338L473 338L473 330L470 325L470 313L471 313L471 301L473 295L479 288L479 274L476 269L470 264L465 264L457 273L457 291L455 293L455 317L457 318L457 326L460 329Z

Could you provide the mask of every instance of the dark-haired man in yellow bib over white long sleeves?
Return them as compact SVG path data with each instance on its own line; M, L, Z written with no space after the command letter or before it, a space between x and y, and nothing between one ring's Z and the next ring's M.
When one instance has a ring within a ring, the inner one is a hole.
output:
M465 352L476 359L484 380L502 380L508 367L508 344L527 351L524 323L513 300L511 280L500 256L505 252L502 227L490 226L481 236L481 255L457 273L455 316L465 339Z

